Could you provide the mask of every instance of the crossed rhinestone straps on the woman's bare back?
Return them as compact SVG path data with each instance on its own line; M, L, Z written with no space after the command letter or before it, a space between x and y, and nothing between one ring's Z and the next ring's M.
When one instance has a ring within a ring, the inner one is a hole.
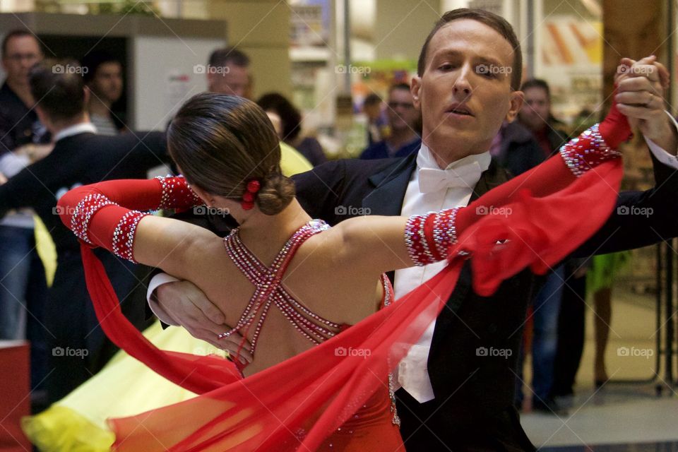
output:
M299 228L287 240L285 246L280 250L270 267L266 267L247 249L242 243L237 229L234 229L229 236L225 237L224 245L228 256L246 278L254 284L256 290L244 309L242 316L240 316L237 325L230 331L220 334L219 338L227 338L235 331L248 328L258 316L254 335L252 335L250 341L251 353L254 355L261 327L264 321L266 321L266 315L271 305L275 305L275 307L280 309L285 319L290 321L299 333L314 344L319 344L348 327L347 325L323 319L321 316L309 311L309 309L297 302L281 284L287 265L292 260L299 246L309 237L328 229L328 227L326 222L312 220L307 225Z

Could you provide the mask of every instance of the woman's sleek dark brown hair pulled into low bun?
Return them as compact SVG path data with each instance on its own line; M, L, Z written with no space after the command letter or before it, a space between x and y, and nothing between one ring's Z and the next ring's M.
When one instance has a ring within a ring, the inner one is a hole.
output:
M242 97L202 93L191 97L169 124L169 155L189 184L209 194L242 200L252 179L261 182L255 203L275 215L295 197L280 173L280 141L266 112Z

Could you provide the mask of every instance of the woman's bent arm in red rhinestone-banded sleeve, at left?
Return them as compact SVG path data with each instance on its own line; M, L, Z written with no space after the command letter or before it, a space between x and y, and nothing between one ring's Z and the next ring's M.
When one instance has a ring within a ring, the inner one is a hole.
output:
M199 198L182 177L116 180L81 186L59 200L66 227L90 246L186 278L191 256L216 236L202 227L150 215L160 208L189 208Z

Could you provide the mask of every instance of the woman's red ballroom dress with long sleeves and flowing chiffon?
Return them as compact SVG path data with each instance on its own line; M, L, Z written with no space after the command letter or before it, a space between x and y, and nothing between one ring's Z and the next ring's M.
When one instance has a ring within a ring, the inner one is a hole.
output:
M561 155L460 209L458 242L449 250L448 266L427 283L306 352L245 379L223 359L163 352L148 343L122 316L101 263L83 246L88 290L107 335L167 379L201 393L111 420L117 435L114 447L392 451L391 445L400 440L394 438L397 432L390 423L389 371L444 307L465 259L471 258L474 290L489 295L525 267L545 273L607 220L617 200L622 163L607 152L597 133L585 132ZM629 135L626 119L614 107L600 124L600 134L612 148ZM184 182L173 178L83 186L69 191L59 206L64 223L83 241L131 258L141 214L127 208L185 208L195 201ZM504 207L511 215L482 215L482 206ZM369 350L369 355L336 350Z

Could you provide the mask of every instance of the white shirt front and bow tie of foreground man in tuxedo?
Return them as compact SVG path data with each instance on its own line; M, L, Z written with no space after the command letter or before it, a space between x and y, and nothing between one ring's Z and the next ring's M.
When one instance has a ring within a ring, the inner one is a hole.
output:
M468 205L475 184L482 172L489 168L492 157L489 151L468 155L440 169L431 150L422 144L417 155L417 169L412 172L408 189L405 191L400 215L421 215L436 210ZM396 298L410 292L446 266L446 261L424 267L410 267L396 270ZM419 403L434 398L427 368L429 350L436 322L433 321L424 334L412 345L408 355L398 364L398 386L410 393Z

